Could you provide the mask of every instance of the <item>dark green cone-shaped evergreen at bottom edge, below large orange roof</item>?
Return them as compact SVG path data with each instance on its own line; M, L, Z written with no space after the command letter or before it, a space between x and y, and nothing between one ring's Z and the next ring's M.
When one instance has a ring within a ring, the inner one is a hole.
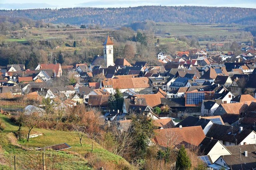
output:
M176 160L176 170L190 170L191 160L187 155L184 145L180 148Z

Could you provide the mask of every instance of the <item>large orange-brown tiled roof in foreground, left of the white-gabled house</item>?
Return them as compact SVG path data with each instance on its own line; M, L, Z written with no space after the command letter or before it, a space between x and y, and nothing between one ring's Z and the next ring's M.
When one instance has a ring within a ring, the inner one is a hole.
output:
M158 129L154 132L155 137L152 141L162 147L173 147L172 145L198 146L205 138L204 131L201 126Z

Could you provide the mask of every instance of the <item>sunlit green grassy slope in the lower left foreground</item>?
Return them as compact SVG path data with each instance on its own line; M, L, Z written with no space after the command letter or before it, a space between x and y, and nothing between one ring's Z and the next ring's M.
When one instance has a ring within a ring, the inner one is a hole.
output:
M12 136L12 132L18 130L18 126L14 125L10 122L7 116L0 114L0 119L4 121L5 130L0 133L0 146L2 145L4 159L10 160L11 155L16 155L18 159L17 164L19 167L22 164L28 166L31 162L31 159L38 160L41 157L40 151L35 150L25 150L21 147L12 145L10 140L8 140L8 136ZM88 163L89 162L98 162L98 166L108 166L117 168L119 164L126 165L131 167L130 164L124 160L122 157L112 154L107 150L103 149L100 145L94 143L94 150L91 152L91 143L92 141L86 137L83 140L83 146L80 146L79 138L74 132L67 131L50 131L45 129L35 129L34 131L38 133L43 133L42 136L30 139L30 142L26 141L18 141L18 144L22 145L24 148L31 147L45 147L50 145L55 145L59 143L68 143L72 148L65 151L46 151L46 164L52 166L52 162L55 159L56 163L54 167L56 169L90 169ZM9 137L10 138L10 137ZM11 138L12 139L12 138ZM14 142L15 143L15 142ZM1 151L0 151L1 152ZM84 159L84 155L90 155L88 158ZM36 159L35 159L36 158ZM8 165L7 161L1 161L0 155L0 168L1 164ZM35 163L36 164L36 163ZM7 166L4 166L7 168ZM98 167L98 168L99 168ZM28 168L28 167L26 167Z

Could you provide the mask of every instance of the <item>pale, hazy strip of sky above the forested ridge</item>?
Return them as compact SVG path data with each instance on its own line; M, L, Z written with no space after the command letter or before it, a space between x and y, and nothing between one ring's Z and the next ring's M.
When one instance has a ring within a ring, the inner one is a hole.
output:
M74 2L74 3L73 3ZM225 6L256 8L256 0L0 0L0 9L74 8L99 7L119 8L134 6Z

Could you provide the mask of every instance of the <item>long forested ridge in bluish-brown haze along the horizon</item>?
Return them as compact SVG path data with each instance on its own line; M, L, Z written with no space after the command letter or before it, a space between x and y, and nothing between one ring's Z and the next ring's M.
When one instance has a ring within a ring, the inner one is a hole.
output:
M124 25L152 20L174 23L256 24L256 9L200 6L139 6L133 8L62 8L0 10L0 16L51 23Z

